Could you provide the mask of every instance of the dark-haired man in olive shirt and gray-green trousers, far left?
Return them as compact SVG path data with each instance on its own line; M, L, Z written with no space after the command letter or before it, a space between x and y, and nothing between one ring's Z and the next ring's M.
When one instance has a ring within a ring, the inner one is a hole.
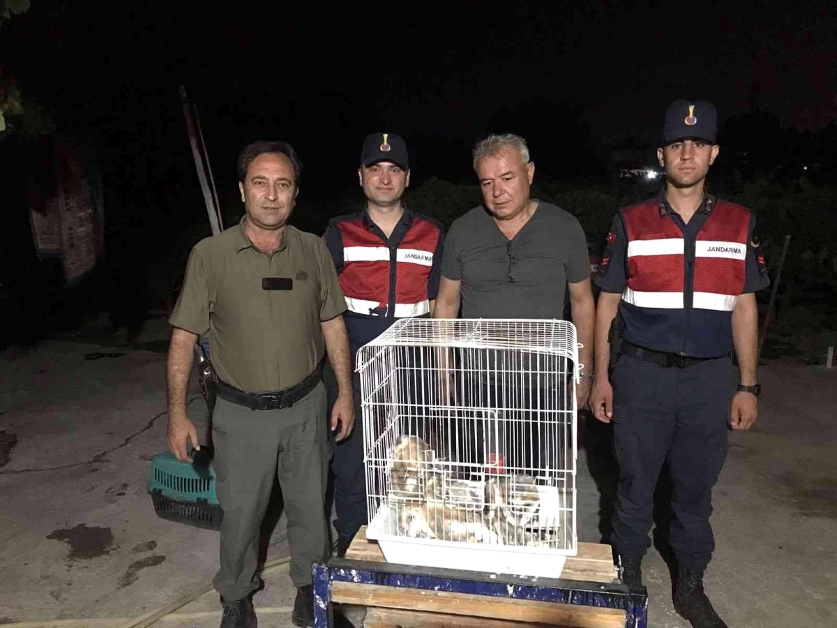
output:
M337 440L354 423L346 301L322 239L290 226L300 160L285 142L255 142L239 157L240 224L192 250L169 319L168 442L191 461L199 449L186 414L194 344L208 333L217 373L214 465L223 508L220 569L222 627L256 623L250 595L259 528L278 475L288 516L290 577L297 587L292 619L313 625L311 564L326 553L328 464L327 350L339 387L331 413Z

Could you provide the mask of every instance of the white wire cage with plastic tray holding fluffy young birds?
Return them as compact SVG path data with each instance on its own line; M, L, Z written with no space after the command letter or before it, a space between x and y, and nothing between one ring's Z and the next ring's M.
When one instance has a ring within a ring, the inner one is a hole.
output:
M388 562L560 576L580 368L566 321L402 319L361 347L367 538Z

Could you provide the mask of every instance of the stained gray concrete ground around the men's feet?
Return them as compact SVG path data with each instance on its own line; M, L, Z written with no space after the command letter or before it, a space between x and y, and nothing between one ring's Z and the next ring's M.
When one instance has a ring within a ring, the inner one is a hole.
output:
M82 333L0 353L0 623L122 625L212 579L218 533L160 519L146 494L151 458L166 449L166 336L152 321L133 349ZM708 594L730 626L837 625L837 368L772 363L761 379L757 427L731 435L716 487ZM194 386L190 399L205 425ZM583 433L578 537L598 542L612 469L606 431ZM287 553L284 517L266 543L269 557ZM650 625L687 626L658 550L644 573ZM286 571L264 580L260 625L290 625ZM218 625L218 597L177 613L159 625Z

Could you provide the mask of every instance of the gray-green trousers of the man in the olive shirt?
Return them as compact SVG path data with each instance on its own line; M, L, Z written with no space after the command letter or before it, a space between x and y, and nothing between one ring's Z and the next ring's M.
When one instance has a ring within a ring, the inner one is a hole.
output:
M325 414L323 383L285 409L251 410L218 398L213 443L223 523L213 583L224 599L240 600L259 587L259 531L275 477L288 518L290 578L296 586L311 584L311 563L328 547Z

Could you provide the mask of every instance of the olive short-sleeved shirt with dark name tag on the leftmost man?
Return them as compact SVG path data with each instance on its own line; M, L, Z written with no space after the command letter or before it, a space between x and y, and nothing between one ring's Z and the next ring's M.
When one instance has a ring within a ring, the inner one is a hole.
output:
M169 322L208 332L218 378L248 393L300 383L325 353L321 322L346 311L325 243L288 225L273 255L258 250L242 223L198 242ZM264 277L293 283L264 290Z

